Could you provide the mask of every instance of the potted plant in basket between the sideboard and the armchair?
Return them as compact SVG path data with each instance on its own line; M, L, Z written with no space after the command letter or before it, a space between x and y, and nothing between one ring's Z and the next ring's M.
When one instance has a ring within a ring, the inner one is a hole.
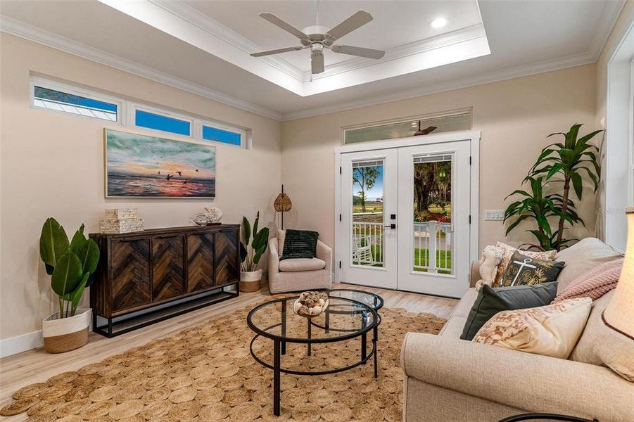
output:
M262 269L258 268L262 254L269 241L269 228L264 227L258 231L260 212L253 222L253 240L251 238L251 224L246 217L242 217L242 241L240 242L240 259L242 261L240 271L240 291L256 292L260 290L262 281Z

